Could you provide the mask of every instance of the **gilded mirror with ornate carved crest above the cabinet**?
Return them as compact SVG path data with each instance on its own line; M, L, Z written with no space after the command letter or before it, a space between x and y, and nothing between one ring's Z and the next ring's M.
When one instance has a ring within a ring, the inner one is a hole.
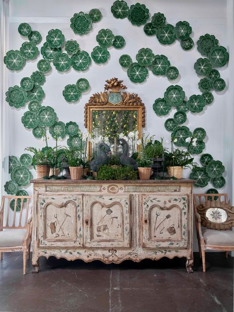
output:
M107 142L113 154L120 150L118 137L134 133L134 139L141 137L145 126L145 107L136 93L127 89L117 78L106 80L104 91L94 93L85 105L85 127L92 133L93 142L89 142L88 157L92 158L96 144ZM129 144L130 154L135 146Z

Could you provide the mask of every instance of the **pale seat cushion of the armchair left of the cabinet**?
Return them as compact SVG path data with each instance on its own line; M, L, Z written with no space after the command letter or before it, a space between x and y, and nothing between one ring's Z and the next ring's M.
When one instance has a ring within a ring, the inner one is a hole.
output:
M3 229L0 231L0 248L23 246L26 229Z

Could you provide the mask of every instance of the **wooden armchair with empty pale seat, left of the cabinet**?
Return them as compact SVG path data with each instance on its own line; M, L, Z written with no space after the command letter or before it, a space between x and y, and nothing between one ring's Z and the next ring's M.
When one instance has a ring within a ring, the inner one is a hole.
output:
M0 206L0 260L3 252L22 251L24 274L32 241L31 198L32 196L2 196ZM3 225L5 207L6 221Z

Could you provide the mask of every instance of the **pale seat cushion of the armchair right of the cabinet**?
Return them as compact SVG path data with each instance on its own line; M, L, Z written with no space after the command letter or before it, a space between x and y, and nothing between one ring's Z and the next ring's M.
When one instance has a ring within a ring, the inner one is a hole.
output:
M234 246L234 231L206 228L202 234L206 245Z

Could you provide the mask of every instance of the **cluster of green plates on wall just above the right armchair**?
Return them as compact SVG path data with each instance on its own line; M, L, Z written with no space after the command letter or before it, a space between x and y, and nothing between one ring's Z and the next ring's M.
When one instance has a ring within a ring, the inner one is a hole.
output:
M192 169L190 178L195 179L194 183L197 187L204 187L211 181L215 188L222 188L225 186L226 181L223 177L225 167L219 160L214 160L210 154L203 154L200 157L202 167L195 167ZM216 189L210 189L208 194L218 193Z

